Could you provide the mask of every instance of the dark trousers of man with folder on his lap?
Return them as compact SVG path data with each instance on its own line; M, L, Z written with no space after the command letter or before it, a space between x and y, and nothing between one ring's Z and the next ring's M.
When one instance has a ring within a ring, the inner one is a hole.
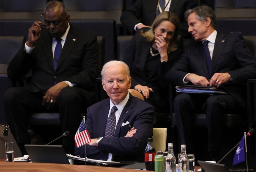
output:
M208 130L208 150L219 152L225 113L237 113L241 108L230 95L178 94L174 99L175 120L180 143L194 150L193 114L205 113Z

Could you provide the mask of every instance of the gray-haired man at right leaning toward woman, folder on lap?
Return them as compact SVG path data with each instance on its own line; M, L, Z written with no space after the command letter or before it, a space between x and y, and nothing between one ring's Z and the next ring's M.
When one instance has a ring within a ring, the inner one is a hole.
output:
M204 111L208 150L212 159L218 159L224 113L244 110L245 81L256 77L256 60L240 34L224 35L216 31L215 14L210 7L199 6L188 10L186 15L188 32L195 41L185 49L166 78L179 86L214 86L226 90L228 94L178 94L174 99L175 120L181 144L186 144L191 151L195 138L193 112Z

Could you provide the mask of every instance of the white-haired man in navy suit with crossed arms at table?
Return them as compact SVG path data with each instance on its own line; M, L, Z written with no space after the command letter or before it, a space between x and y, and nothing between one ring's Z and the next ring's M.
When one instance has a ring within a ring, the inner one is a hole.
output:
M106 63L101 75L102 86L109 99L87 108L85 125L92 141L86 144L86 157L144 161L147 139L153 132L154 108L128 93L131 77L124 62ZM76 148L75 155L85 157L84 146Z

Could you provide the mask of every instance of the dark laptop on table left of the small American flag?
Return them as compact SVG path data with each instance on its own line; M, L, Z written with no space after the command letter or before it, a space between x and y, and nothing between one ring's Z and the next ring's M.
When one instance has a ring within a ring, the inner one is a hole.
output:
M25 145L32 162L69 164L61 145Z

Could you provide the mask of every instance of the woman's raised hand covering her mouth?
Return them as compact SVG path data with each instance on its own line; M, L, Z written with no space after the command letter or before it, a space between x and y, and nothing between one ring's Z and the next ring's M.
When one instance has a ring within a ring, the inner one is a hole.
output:
M158 49L158 52L161 56L161 62L162 61L168 61L168 45L169 42L166 42L163 36L156 36L155 38L155 42L156 42L156 47Z

